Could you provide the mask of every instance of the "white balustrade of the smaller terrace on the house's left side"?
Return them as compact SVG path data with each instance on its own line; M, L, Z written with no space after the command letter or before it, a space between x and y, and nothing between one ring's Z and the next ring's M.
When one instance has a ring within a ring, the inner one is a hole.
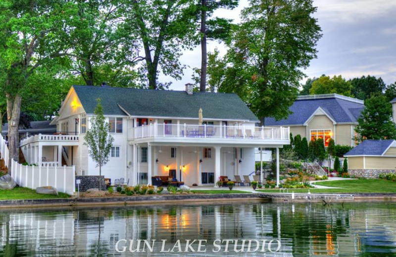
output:
M21 140L21 146L27 145L29 143L40 142L43 145L78 145L79 136L73 133L56 133L52 135L38 134L31 135L29 137L23 138Z

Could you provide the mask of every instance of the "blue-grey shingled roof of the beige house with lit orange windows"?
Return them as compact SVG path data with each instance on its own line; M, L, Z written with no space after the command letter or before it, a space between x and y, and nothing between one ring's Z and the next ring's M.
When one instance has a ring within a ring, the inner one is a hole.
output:
M265 126L301 125L321 107L337 123L357 123L364 105L337 97L296 100L289 108L293 113L287 119L276 121L265 118Z

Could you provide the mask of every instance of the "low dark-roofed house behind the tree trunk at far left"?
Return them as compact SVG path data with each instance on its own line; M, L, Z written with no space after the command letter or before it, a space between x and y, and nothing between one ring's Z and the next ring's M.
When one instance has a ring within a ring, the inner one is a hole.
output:
M37 134L52 134L56 132L56 126L50 124L51 121L34 121L30 122L29 128L19 127L19 138ZM1 129L1 135L7 136L8 123L5 123Z

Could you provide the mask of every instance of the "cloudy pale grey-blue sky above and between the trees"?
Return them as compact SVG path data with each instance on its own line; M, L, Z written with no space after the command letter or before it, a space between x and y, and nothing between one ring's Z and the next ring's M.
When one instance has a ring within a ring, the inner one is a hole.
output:
M239 22L240 10L247 0L240 0L234 10L221 10L218 16ZM386 84L396 81L396 0L314 0L318 7L315 17L322 28L318 58L311 61L308 77L342 75L350 79L362 75L382 77ZM208 51L223 45L211 42ZM200 66L200 48L183 53L181 62L189 67ZM181 81L172 81L170 89L183 90L192 82L192 68L184 71Z

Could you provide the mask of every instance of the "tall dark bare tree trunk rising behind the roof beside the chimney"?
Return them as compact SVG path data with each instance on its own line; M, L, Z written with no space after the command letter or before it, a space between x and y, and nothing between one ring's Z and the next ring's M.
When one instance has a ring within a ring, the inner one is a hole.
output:
M206 49L206 0L201 0L201 78L199 91L206 91L207 49Z

